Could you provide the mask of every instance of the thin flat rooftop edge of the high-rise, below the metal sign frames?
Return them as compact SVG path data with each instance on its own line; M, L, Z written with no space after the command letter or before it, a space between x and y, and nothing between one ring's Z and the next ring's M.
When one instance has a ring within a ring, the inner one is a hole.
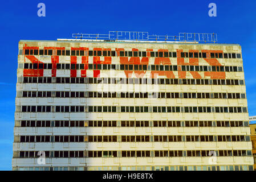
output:
M240 44L227 44L227 43L198 43L198 42L153 42L153 41L124 41L124 40L117 40L117 41L104 41L104 40L68 40L68 39L59 39L59 40L19 40L19 42L89 42L89 43L141 43L141 44L196 44L196 45L211 45L211 46L240 46Z

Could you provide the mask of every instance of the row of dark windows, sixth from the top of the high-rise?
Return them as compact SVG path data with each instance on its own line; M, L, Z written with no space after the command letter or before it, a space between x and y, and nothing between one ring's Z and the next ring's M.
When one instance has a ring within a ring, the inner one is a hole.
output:
M247 121L21 121L21 127L247 127Z

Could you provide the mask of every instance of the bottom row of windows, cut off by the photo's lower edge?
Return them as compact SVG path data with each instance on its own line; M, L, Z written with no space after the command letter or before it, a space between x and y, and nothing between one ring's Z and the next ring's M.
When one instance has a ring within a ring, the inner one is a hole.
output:
M14 171L253 171L251 165L230 166L88 166L13 167Z

